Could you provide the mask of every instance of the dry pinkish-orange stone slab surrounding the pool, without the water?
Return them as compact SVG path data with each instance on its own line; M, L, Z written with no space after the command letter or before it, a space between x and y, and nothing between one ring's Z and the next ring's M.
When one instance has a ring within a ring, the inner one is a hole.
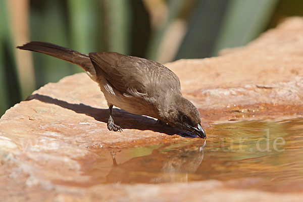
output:
M285 20L244 47L219 57L166 66L198 108L203 126L241 119L303 115L303 19ZM102 92L85 73L48 83L0 120L2 201L301 201L303 193L229 188L208 180L163 184L94 184L82 162L94 149L120 149L182 138L155 119L114 109L123 132L107 129ZM212 137L209 134L208 137ZM107 153L105 152L105 155Z

